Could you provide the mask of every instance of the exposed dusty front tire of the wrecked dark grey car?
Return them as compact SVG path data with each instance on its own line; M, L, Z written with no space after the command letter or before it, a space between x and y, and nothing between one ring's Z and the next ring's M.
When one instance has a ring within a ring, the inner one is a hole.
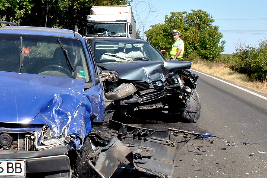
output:
M190 123L196 122L200 117L201 104L199 96L196 93L196 90L193 91L193 94L187 99L186 107L181 113L182 117Z

